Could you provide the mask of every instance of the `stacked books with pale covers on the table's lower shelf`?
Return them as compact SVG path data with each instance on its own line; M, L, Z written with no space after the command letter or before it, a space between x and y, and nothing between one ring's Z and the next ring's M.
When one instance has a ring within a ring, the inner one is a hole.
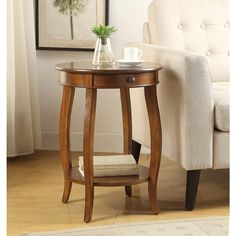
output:
M84 158L79 157L79 172L84 177ZM94 156L94 177L138 175L132 155Z

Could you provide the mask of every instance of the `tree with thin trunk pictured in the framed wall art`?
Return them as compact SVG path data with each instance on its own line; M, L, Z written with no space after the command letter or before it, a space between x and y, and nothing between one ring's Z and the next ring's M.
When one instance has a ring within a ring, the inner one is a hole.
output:
M74 39L74 22L73 16L82 12L87 5L88 0L54 0L53 6L59 8L62 14L70 16L70 33L71 39Z

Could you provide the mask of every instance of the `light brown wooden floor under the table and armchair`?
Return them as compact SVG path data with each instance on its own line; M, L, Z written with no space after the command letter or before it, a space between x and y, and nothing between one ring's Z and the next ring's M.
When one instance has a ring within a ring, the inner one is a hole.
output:
M78 153L72 153L74 163L77 156ZM145 155L141 162L148 165ZM58 152L38 151L31 156L10 159L8 235L229 214L228 170L203 171L196 208L191 212L184 211L185 174L179 166L162 159L158 180L159 215L150 211L146 183L134 186L131 198L125 196L122 187L96 187L92 222L85 224L83 186L74 184L69 203L61 202L63 174Z

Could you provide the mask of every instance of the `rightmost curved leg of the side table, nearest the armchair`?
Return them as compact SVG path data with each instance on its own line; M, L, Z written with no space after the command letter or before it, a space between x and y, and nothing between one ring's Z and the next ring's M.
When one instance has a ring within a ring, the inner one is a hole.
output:
M151 159L149 168L148 193L151 209L159 213L157 203L157 178L161 161L161 120L158 108L156 85L144 88L151 134Z

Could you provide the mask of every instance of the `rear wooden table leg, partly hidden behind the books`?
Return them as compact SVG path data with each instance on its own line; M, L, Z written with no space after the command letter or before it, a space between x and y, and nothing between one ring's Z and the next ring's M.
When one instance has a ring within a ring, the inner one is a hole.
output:
M130 104L130 92L129 88L120 89L122 118L123 118L123 145L124 154L132 153L132 116L131 116L131 104ZM125 193L131 197L132 187L125 186Z

